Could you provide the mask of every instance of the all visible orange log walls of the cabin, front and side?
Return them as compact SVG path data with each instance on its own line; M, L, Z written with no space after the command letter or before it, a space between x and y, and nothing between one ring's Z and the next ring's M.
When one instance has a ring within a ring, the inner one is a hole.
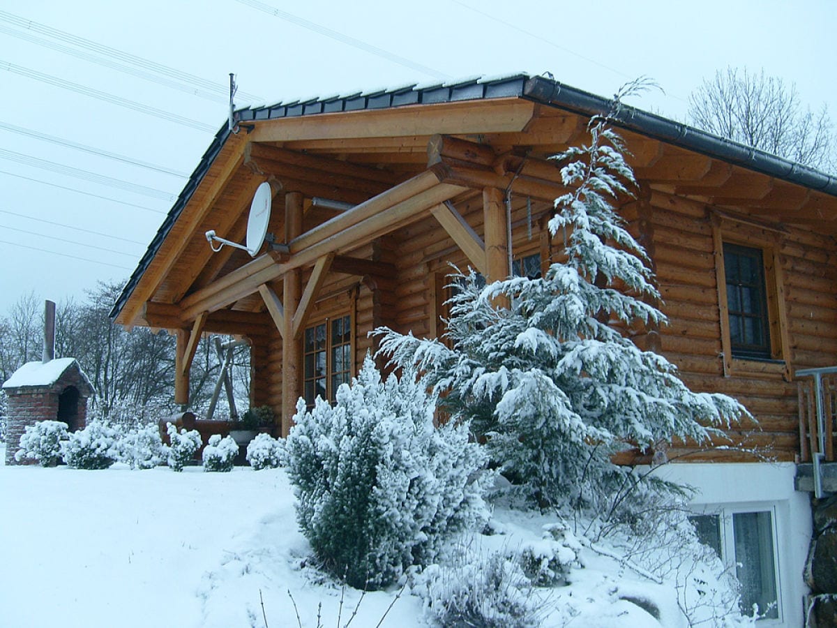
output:
M680 368L684 382L696 391L730 394L739 399L758 421L745 421L728 430L730 440L718 445L757 449L779 461L793 461L799 450L797 383L778 371L739 369L725 376L721 359L721 311L712 239L711 211L704 203L666 193L644 190L645 197L626 204L624 217L634 236L653 253L663 311L669 324L659 330L638 332L640 347L658 350ZM484 235L482 198L459 199L456 208L475 231ZM512 198L512 249L518 258L551 250L546 219L551 203L533 202L531 239L526 198ZM782 265L790 364L792 368L831 366L837 363L837 248L827 236L791 226L782 229L779 259ZM560 247L557 247L560 248ZM553 247L554 249L554 247ZM355 371L367 351L374 351L372 329L387 325L418 337L442 331L437 319L439 277L449 263L465 270L467 258L432 216L376 240L352 253L363 259L394 266L396 276L360 277L331 272L311 314L310 324L352 311L355 332ZM303 285L308 280L303 275ZM444 285L444 281L441 283ZM280 285L273 286L280 293ZM266 341L266 342L264 342ZM259 342L264 348L259 347ZM281 338L278 333L254 342L254 403L281 407ZM753 461L742 450L703 451L686 444L669 450L684 461Z

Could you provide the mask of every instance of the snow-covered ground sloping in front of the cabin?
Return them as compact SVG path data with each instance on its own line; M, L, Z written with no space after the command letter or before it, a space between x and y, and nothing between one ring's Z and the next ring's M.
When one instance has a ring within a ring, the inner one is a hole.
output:
M0 502L2 626L277 628L298 625L298 611L307 628L317 625L319 605L321 624L336 626L360 598L306 566L310 546L281 470L0 466ZM504 533L485 538L498 548L540 538L546 521L495 516ZM548 589L542 625L685 625L673 589L586 551L573 584ZM365 595L352 626L376 626L396 593ZM654 600L660 620L624 598ZM409 589L383 622L424 625Z

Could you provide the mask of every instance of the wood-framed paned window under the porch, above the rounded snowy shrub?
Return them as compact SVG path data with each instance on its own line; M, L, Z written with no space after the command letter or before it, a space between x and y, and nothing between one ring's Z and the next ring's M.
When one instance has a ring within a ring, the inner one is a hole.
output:
M337 317L308 327L305 333L305 399L333 402L341 383L352 378L352 317Z

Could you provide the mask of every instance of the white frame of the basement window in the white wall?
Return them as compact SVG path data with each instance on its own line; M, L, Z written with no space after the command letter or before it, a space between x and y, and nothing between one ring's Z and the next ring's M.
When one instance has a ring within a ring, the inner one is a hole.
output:
M743 504L716 504L711 506L698 507L692 511L693 515L702 516L716 516L719 522L719 533L721 542L721 563L726 569L731 569L733 574L737 575L737 564L739 562L736 554L736 538L735 538L735 524L734 515L751 514L767 512L770 516L770 543L773 549L773 585L776 590L776 617L766 617L763 620L758 620L757 625L783 625L784 609L782 603L782 569L780 564L781 553L779 551L779 536L778 536L778 512L776 512L776 505L773 503L753 502ZM714 549L714 548L713 548ZM764 612L764 609L759 609L759 612Z

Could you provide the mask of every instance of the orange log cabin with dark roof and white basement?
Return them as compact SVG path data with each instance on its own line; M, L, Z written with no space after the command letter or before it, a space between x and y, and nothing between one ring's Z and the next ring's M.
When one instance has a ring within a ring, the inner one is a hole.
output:
M549 157L609 106L513 75L235 111L111 317L176 334L178 404L203 334L246 338L250 403L272 406L286 435L298 398L333 399L357 373L367 332L444 333L450 264L493 281L557 259L546 222L564 188ZM614 126L639 183L621 214L669 319L629 332L691 389L757 419L720 449L672 446L670 476L699 489L696 525L729 564L751 554L746 600L776 600L766 621L801 625L809 492L837 489L837 178L628 106ZM243 241L265 182L266 243L213 251L210 230Z

